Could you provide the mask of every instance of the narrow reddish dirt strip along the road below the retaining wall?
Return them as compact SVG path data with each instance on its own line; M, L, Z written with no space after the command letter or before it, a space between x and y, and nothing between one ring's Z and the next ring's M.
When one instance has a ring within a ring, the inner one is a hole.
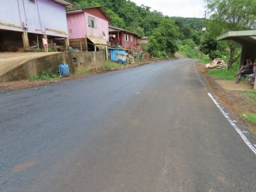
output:
M0 83L0 89L17 90L17 89L32 88L35 86L47 85L50 83L56 83L56 82L60 82L60 81L68 81L68 80L72 80L72 79L89 77L92 75L106 73L106 72L110 72L110 71L125 70L128 68L138 67L140 65L145 65L145 64L149 64L149 62L147 62L147 63L139 62L139 63L135 63L132 65L124 65L123 67L119 67L119 68L110 68L110 69L104 69L104 70L94 69L94 70L91 70L89 74L72 74L72 75L70 75L70 77L57 78L57 79L52 79L50 81L47 81L47 80L39 80L39 81L22 80L22 81L13 81L13 82L3 82L3 83Z

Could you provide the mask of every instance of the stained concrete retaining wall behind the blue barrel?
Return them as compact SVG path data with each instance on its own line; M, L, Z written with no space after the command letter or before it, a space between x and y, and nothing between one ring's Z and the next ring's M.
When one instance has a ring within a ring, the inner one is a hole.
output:
M42 74L49 68L56 68L61 63L69 65L70 73L95 69L104 66L105 51L60 52L48 56L33 58L0 76L0 82L19 81ZM55 69L54 69L55 71Z

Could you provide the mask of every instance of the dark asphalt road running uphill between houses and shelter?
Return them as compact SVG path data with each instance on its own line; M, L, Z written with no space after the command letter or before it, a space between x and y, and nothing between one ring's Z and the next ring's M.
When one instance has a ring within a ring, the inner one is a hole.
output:
M193 60L0 94L1 192L255 192Z

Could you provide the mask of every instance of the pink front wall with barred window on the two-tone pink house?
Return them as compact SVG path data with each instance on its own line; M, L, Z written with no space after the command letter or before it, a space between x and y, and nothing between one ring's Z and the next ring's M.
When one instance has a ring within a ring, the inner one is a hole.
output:
M93 17L96 19L97 28L93 29L88 26L88 16ZM99 17L95 17L89 13L85 13L85 26L86 26L86 35L95 36L95 37L102 37L103 39L109 40L109 22L101 19ZM105 33L105 36L103 33Z

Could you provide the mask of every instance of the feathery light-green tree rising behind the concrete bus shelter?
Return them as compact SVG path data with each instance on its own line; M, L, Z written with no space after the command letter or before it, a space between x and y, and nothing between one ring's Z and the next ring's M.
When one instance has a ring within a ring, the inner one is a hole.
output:
M205 0L211 15L208 24L211 33L218 36L228 31L239 31L255 29L256 2L255 0ZM237 61L239 55L235 57L235 50L239 47L235 42L228 42L230 58L228 69Z

